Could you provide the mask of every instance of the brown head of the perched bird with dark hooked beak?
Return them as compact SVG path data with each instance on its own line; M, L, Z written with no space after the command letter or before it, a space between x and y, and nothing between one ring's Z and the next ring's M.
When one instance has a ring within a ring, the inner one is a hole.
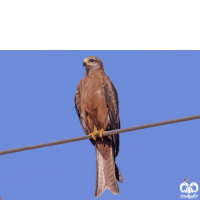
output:
M88 56L87 58L83 59L83 67L84 66L87 73L97 69L103 69L102 61L95 56Z

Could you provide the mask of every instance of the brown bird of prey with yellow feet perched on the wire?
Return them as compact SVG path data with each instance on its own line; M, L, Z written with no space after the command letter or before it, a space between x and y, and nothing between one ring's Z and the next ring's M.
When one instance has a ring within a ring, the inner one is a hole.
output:
M119 134L104 136L104 131L120 129L117 91L105 74L102 61L89 56L83 60L85 75L78 83L75 109L85 134L92 136L96 152L95 197L108 188L119 194L117 180L123 177L115 164L119 152ZM100 137L97 137L100 136Z

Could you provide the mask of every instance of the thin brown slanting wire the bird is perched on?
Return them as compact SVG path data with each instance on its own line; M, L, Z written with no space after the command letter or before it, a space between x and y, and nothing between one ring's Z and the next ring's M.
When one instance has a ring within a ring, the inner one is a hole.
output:
M112 130L112 131L105 131L105 132L103 132L103 136L113 135L113 134L117 134L117 133L124 133L124 132L128 132L128 131L135 131L135 130L144 129L144 128L151 128L151 127L161 126L161 125L166 125L166 124L173 124L173 123L177 123L177 122L183 122L183 121L199 119L199 118L200 118L200 115L193 115L193 116L189 116L189 117L182 117L182 118L171 119L171 120L155 122L155 123L150 123L150 124L144 124L144 125L139 125L139 126L132 126L132 127L116 129L116 130ZM0 155L14 153L14 152L18 152L18 151L26 151L26 150L30 150L30 149L37 149L37 148L41 148L41 147L53 146L53 145L58 145L58 144L64 144L64 143L69 143L69 142L75 142L75 141L80 141L80 140L87 140L87 139L91 139L91 138L92 138L91 136L85 135L85 136L80 136L80 137L75 137L75 138L47 142L47 143L43 143L43 144L36 144L36 145L32 145L32 146L7 149L7 150L0 151Z

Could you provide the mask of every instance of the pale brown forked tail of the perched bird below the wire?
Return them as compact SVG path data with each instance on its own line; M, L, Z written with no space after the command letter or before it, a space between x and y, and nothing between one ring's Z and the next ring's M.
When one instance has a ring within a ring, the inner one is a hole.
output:
M114 152L112 147L110 148L110 153L107 160L105 160L102 157L102 155L99 153L96 147L95 151L96 151L96 184L95 184L94 196L99 197L105 191L106 188L108 188L110 192L113 194L119 194L119 188L115 175L116 169L115 169Z

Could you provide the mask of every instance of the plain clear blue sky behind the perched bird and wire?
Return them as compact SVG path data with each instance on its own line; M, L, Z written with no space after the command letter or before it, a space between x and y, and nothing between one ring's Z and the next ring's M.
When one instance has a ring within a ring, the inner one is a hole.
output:
M118 91L122 128L200 114L200 51L0 51L0 150L85 135L74 95L90 55ZM120 193L99 199L181 199L184 178L200 186L200 120L121 134L116 163ZM89 140L1 155L0 195L90 200L95 173Z

